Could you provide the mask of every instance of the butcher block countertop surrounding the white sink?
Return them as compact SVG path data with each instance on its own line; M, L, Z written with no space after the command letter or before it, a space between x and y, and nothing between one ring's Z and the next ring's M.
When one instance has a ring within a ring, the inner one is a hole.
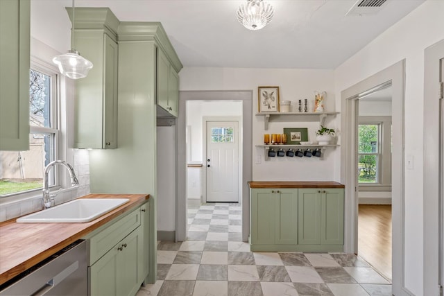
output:
M87 223L0 223L0 285L148 200L145 194L89 194L82 198L129 198Z

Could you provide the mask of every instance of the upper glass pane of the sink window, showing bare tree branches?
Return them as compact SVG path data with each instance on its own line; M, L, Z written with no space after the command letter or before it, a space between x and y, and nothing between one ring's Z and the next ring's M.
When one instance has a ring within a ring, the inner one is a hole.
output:
M51 76L29 71L29 124L51 128Z

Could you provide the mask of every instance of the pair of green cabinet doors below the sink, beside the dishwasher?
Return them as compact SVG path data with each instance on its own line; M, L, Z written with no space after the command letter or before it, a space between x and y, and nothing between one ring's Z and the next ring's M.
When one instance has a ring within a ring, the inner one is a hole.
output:
M135 295L142 250L142 227L138 227L89 268L91 295Z

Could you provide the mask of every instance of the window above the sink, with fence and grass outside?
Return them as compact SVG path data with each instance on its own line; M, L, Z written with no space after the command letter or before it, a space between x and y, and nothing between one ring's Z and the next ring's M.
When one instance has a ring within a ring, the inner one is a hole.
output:
M0 195L42 188L44 167L57 157L58 76L34 67L29 80L29 150L0 152ZM51 170L49 184L56 181Z

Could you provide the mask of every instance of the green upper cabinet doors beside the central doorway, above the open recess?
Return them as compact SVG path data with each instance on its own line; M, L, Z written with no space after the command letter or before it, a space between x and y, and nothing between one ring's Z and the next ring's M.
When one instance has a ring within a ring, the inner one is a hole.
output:
M157 48L157 105L158 116L178 116L179 76L162 49Z

